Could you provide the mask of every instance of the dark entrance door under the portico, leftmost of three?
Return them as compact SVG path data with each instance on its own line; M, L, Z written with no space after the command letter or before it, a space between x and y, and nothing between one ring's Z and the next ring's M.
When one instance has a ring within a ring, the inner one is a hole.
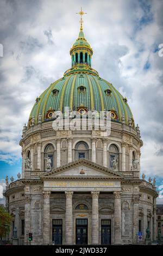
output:
M53 220L52 241L54 245L62 244L62 220Z

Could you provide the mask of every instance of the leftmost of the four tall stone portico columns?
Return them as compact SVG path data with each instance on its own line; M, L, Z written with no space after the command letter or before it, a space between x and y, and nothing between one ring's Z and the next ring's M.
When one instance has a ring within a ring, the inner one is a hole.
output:
M43 244L48 245L50 241L50 196L51 191L43 191Z

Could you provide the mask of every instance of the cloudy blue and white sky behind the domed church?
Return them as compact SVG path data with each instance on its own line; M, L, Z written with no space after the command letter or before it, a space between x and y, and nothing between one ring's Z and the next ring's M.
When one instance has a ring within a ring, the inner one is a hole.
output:
M1 0L0 197L5 175L21 172L18 142L36 96L71 66L81 6L92 67L127 97L144 143L141 174L156 177L163 203L161 0Z

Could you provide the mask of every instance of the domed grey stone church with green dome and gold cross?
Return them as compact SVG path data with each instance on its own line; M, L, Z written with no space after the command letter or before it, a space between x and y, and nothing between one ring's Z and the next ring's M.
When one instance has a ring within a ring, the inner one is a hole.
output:
M71 68L36 97L23 127L22 174L10 184L6 180L10 239L16 227L19 245L29 244L29 233L31 245L156 240L158 195L155 180L140 176L139 126L126 97L92 68L83 14L70 50ZM101 112L104 124L110 119L108 133L95 127Z

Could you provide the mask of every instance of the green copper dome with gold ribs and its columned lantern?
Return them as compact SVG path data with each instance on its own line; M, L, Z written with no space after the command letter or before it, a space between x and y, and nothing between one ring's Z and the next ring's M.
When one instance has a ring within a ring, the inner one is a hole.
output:
M82 41L82 44L81 44ZM52 83L39 97L30 113L31 124L46 122L52 118L51 112L62 111L69 107L77 111L111 111L112 120L134 126L133 115L124 98L111 83L99 77L91 68L92 48L84 38L83 28L70 50L72 67L64 77Z

